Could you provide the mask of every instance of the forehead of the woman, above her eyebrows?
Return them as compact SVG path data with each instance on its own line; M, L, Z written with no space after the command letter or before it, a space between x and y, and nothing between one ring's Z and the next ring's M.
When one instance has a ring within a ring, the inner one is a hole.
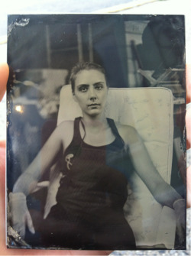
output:
M105 82L105 74L99 70L81 70L76 74L76 83Z

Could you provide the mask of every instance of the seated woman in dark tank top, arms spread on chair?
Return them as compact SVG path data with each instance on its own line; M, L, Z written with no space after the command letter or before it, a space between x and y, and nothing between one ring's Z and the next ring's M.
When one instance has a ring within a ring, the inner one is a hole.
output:
M160 177L137 131L105 118L105 70L95 63L78 63L70 81L83 118L58 125L18 178L10 194L13 228L21 237L25 223L32 233L36 229L40 247L135 249L134 234L123 212L128 179L135 170L157 202L175 209L182 241L185 200ZM37 222L28 212L26 196L60 152L63 178L57 204L46 219Z

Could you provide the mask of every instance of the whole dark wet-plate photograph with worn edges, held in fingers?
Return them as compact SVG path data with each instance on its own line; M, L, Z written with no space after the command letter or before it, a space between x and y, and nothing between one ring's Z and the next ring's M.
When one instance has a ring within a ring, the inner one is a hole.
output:
M186 249L183 15L8 15L7 247Z

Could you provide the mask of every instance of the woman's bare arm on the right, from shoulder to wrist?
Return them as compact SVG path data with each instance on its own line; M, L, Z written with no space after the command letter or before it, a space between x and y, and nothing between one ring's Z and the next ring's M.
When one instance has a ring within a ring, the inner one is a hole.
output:
M138 176L141 177L158 203L173 208L173 203L181 199L181 196L160 176L138 132L130 126L125 126L121 128L121 133L125 143L128 144L131 160Z

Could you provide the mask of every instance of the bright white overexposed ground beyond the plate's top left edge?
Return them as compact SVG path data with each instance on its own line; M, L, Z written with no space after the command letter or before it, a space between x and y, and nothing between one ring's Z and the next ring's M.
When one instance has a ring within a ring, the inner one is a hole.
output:
M3 1L0 9L0 37L6 34L8 14L42 14L42 13L89 13L101 8L132 2L132 0L8 0Z

